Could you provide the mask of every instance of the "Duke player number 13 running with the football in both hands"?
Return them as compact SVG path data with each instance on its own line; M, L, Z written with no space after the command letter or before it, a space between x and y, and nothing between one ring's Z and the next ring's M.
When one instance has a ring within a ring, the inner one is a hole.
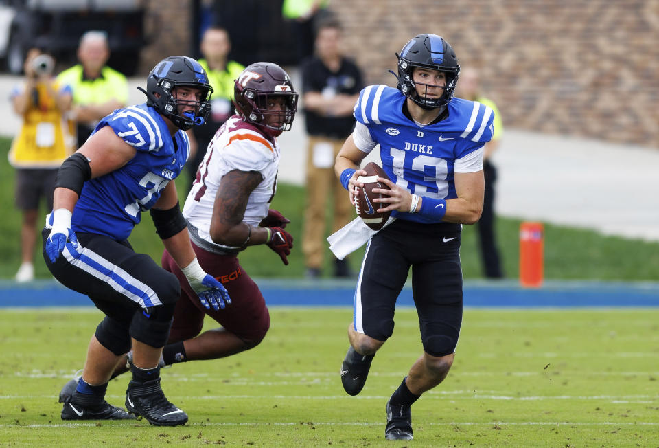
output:
M424 353L386 403L387 439L411 439L411 405L448 374L462 322L461 224L483 208L483 145L492 137L492 109L453 98L460 66L452 47L419 34L398 57L397 89L362 90L354 132L335 171L354 203L360 162L380 144L391 181L379 212L395 217L367 245L355 293L350 348L341 368L348 394L365 385L375 352L393 333L395 302L412 267L413 296Z

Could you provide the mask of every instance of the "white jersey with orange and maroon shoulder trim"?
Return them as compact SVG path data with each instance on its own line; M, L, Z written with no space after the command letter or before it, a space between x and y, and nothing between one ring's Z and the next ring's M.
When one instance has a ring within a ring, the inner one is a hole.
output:
M211 240L209 229L222 177L233 170L257 171L263 180L249 195L243 222L259 225L268 215L270 201L275 196L278 166L279 145L276 139L268 139L259 128L233 115L208 145L192 190L185 200L183 216L198 229L200 238L217 245Z

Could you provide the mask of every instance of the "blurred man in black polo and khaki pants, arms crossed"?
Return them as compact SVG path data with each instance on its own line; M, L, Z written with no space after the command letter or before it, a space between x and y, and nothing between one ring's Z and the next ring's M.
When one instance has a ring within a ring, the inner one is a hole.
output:
M333 196L333 232L354 217L352 205L345 200L345 191L334 181L334 159L354 128L352 110L363 85L360 69L341 53L340 37L337 21L327 19L319 23L316 54L305 60L301 68L309 135L302 249L309 278L321 276L328 197ZM333 186L329 192L328 185ZM350 276L346 260L335 263L335 276Z

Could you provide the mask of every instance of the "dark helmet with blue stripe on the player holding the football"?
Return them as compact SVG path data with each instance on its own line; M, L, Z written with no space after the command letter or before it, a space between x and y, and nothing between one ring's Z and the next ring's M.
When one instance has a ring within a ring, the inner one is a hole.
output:
M404 96L410 98L424 109L435 109L448 104L453 99L455 86L460 74L458 58L451 45L437 34L419 34L406 43L398 58L397 88ZM427 98L417 93L416 86L426 86L414 82L412 71L415 67L443 71L446 74L444 93L439 98ZM392 72L393 73L393 72Z

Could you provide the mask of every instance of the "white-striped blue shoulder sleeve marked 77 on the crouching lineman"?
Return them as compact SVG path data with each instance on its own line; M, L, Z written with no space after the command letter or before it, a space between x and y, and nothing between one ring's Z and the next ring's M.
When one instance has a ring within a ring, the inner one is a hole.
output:
M117 109L103 122L139 151L155 151L163 146L163 136L155 117L144 109L135 106Z

